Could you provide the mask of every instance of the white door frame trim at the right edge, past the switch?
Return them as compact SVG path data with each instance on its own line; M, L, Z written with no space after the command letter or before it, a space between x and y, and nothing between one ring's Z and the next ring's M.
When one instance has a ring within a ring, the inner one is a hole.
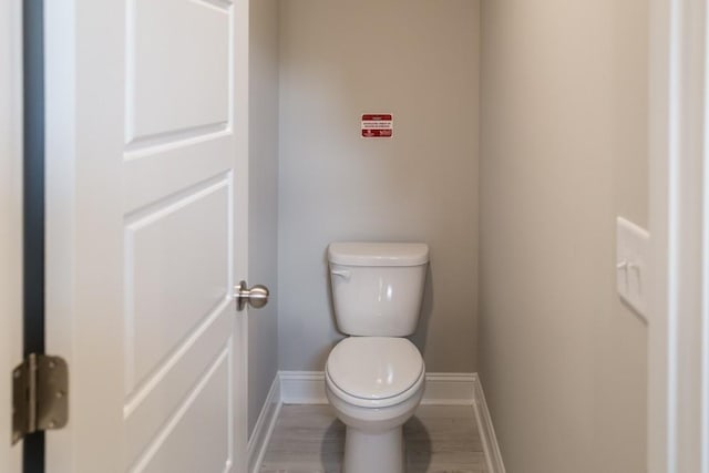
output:
M705 3L650 3L650 473L709 473L709 11Z

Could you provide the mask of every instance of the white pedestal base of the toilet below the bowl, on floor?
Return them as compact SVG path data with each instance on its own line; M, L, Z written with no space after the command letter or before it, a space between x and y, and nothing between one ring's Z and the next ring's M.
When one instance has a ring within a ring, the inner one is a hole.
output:
M347 426L343 473L404 473L404 471L401 425L377 433Z

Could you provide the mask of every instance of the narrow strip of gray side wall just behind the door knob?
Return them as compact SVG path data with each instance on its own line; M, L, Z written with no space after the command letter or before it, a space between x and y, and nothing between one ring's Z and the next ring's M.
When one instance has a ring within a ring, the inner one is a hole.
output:
M248 282L271 300L248 320L248 431L278 371L278 2L250 2Z

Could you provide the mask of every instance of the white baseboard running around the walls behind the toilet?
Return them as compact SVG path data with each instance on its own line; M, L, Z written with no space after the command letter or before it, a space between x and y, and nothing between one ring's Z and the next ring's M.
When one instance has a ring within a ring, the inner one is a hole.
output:
M476 373L427 373L422 404L471 405L490 473L505 473L485 394ZM260 469L282 404L327 404L322 371L279 371L248 442L248 471Z

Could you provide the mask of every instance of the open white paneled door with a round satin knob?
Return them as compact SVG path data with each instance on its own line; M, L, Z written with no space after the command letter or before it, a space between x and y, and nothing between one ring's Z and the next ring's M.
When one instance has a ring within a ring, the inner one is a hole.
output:
M45 9L48 472L240 472L247 0Z

